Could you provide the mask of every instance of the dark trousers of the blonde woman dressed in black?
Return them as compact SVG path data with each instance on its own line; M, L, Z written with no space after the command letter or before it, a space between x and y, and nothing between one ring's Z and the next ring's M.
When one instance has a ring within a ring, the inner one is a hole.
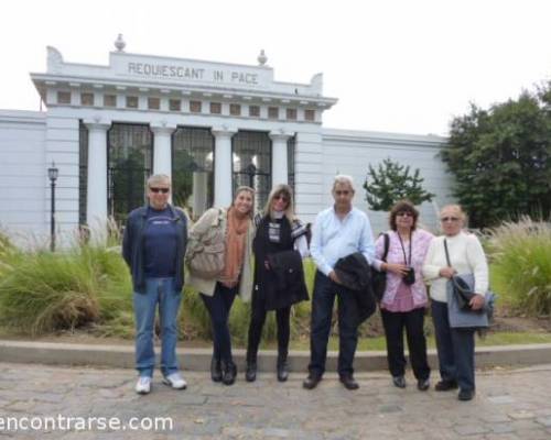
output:
M258 345L262 337L262 328L266 322L266 296L258 290L252 293L251 316L249 323L249 338L247 343L247 362L256 363ZM291 327L289 319L291 317L291 306L276 310L276 320L278 322L278 361L287 360L289 351L289 338Z

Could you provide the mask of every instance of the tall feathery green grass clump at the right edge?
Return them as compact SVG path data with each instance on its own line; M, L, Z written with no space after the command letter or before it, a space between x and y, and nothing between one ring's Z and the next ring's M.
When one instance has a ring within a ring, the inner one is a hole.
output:
M516 311L551 312L551 223L525 217L489 232L495 290Z

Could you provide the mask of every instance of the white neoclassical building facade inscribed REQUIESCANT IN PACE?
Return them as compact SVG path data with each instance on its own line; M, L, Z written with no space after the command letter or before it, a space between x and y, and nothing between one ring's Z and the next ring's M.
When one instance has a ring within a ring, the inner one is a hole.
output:
M367 167L386 157L420 168L436 205L449 198L444 139L325 129L337 99L323 95L322 74L277 81L263 52L258 65L213 63L129 54L119 37L105 66L67 63L47 47L46 72L31 79L45 110L0 110L0 184L18 188L0 195L0 227L13 233L48 231L52 163L60 231L123 222L153 173L172 177L173 202L194 218L228 206L239 185L255 187L262 207L272 185L289 183L298 215L313 221L337 173L355 178L355 204L367 210ZM434 204L421 210L434 224ZM385 213L369 215L385 229Z

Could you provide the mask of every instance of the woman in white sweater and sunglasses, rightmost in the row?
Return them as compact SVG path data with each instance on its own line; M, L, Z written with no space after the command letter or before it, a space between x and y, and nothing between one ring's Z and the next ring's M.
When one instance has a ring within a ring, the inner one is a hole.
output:
M446 283L455 274L473 274L474 292L471 308L484 307L488 289L488 264L480 242L463 231L465 213L458 205L442 208L440 221L444 235L431 242L423 264L423 275L431 284L432 318L436 336L440 375L435 389L445 392L460 387L458 399L471 400L475 395L475 329L451 328L447 318ZM444 241L447 244L447 263Z

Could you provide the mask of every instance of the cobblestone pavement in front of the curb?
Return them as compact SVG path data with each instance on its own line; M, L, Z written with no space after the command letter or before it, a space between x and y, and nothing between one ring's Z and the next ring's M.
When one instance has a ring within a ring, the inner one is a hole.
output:
M234 386L212 383L206 372L185 376L186 391L169 388L158 374L152 393L138 396L130 370L0 363L0 428L9 417L45 424L57 415L73 417L73 428L82 428L84 417L117 417L123 425L171 417L174 424L156 431L0 430L0 439L551 439L551 364L477 372L469 403L458 402L456 392L421 393L411 376L398 389L385 372L358 374L355 392L335 374L311 392L299 373L284 384L269 373L248 384L241 373Z

